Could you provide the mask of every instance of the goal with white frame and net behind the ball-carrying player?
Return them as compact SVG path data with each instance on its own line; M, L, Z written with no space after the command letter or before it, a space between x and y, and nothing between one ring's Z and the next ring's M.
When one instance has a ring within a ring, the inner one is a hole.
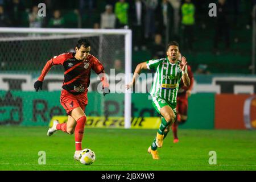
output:
M131 96L125 84L131 73L131 31L62 28L0 28L0 125L48 125L54 116L65 115L59 101L61 65L48 72L43 90L36 93L33 85L49 59L75 52L81 38L89 40L90 53L104 65L111 90L105 97L99 93L100 80L92 71L86 125L130 127Z

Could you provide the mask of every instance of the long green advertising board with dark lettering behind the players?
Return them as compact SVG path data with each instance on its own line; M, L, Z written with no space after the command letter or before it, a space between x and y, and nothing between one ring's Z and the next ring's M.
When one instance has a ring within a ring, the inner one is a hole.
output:
M1 91L0 125L47 126L54 116L65 115L65 110L59 104L59 96L60 93L57 91L43 91L40 93ZM93 100L94 98L97 98L97 100ZM89 117L119 117L120 119L123 115L123 94L110 94L108 98L104 99L102 94L89 92L88 100L85 110ZM188 125L181 126L181 128L213 129L214 94L193 94L189 98L189 103L191 105L189 121L191 122L188 121ZM104 108L100 109L102 106ZM156 125L147 126L146 128L156 129L159 127L157 124L159 120L158 113L152 108L152 101L148 100L147 93L133 94L131 117L132 119L134 117L155 117ZM152 122L152 119L149 119L148 122Z

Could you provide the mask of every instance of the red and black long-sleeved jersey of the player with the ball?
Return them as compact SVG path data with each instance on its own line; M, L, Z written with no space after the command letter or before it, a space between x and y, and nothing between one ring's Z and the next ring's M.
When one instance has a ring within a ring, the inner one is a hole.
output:
M48 60L38 78L39 81L44 80L53 65L63 65L65 72L62 88L74 95L87 92L91 69L97 74L104 71L103 65L95 56L89 55L86 60L82 61L75 58L75 52L68 52Z

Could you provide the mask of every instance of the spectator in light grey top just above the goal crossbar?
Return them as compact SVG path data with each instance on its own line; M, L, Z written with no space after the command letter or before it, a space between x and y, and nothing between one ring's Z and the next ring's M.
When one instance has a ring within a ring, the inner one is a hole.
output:
M101 28L115 28L115 14L112 5L106 5L105 12L101 14Z

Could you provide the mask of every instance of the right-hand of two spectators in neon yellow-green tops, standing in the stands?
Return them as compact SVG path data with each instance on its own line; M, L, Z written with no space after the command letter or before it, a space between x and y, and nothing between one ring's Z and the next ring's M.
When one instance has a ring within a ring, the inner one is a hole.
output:
M193 50L192 43L194 42L193 26L195 25L195 6L191 0L185 0L181 6L182 13L182 28L183 28L183 47L189 52Z

